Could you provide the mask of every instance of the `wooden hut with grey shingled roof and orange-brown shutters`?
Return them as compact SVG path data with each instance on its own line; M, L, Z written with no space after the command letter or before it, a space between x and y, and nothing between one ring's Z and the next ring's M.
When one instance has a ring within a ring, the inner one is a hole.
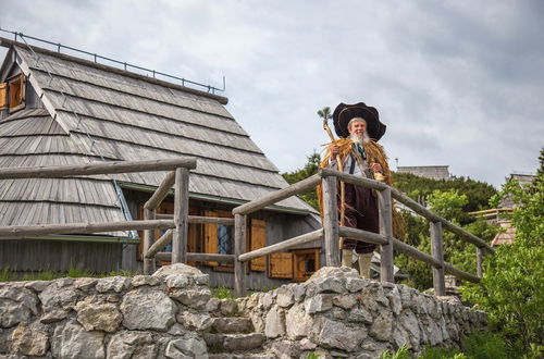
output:
M224 108L227 99L126 69L0 38L0 168L190 157L189 214L232 216L240 203L287 186L277 168ZM60 47L59 47L60 49ZM95 59L96 60L96 59ZM0 226L141 219L164 173L0 181ZM173 213L171 199L160 213ZM320 227L299 198L250 216L248 249ZM231 253L232 227L190 224L188 251ZM49 235L0 239L0 268L17 271L138 270L140 234ZM323 260L319 247L250 263L251 287L305 280ZM232 267L191 263L212 285Z

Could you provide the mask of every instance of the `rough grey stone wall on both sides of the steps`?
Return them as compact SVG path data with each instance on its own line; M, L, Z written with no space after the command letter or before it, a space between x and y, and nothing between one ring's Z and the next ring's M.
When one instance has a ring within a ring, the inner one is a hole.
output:
M364 358L405 343L416 351L458 345L486 320L346 268L323 268L308 282L236 301L210 298L208 281L174 264L152 276L0 283L0 358L225 358L209 354L210 339L218 341L210 331L235 313L265 337L260 358Z

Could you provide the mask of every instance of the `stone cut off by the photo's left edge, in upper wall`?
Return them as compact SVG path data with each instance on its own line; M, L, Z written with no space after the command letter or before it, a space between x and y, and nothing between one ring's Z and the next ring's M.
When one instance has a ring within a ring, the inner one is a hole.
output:
M26 322L38 313L38 298L27 288L0 287L0 327L11 327Z

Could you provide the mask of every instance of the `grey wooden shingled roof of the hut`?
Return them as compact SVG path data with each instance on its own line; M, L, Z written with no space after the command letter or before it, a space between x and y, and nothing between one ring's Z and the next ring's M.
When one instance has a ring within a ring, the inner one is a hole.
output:
M287 186L276 166L226 111L224 98L45 49L33 47L32 51L21 44L14 44L12 50L45 110L23 110L0 122L0 168L190 157L197 159L189 184L194 197L243 202ZM115 175L120 182L143 186L158 186L163 177L164 173L154 172ZM122 220L111 180L62 180L75 189L64 195L59 191L42 206L81 201L101 209L96 219ZM2 181L0 213L2 206L23 206L15 202L27 195L16 197L8 187L42 186L37 193L44 193L49 186L44 180L18 181L9 186ZM84 183L95 186L103 198L85 197L78 187ZM274 208L314 212L299 198L283 200ZM82 214L76 212L74 222ZM1 215L0 225L37 223L29 216L10 223ZM47 220L58 222L57 218Z

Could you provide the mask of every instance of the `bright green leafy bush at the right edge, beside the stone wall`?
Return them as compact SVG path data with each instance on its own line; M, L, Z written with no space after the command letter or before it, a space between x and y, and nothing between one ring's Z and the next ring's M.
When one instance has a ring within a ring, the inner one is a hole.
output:
M494 200L505 196L512 196L517 203L511 215L515 243L487 256L481 283L461 290L490 314L492 327L514 352L532 350L528 354L532 356L544 345L544 174L523 187L507 183Z

